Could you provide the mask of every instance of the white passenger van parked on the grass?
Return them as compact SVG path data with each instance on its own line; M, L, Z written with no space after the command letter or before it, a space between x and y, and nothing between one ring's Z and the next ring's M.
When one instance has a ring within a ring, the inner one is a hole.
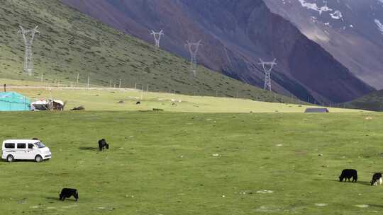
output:
M7 139L3 141L1 158L8 162L35 160L41 162L52 157L50 149L39 140Z

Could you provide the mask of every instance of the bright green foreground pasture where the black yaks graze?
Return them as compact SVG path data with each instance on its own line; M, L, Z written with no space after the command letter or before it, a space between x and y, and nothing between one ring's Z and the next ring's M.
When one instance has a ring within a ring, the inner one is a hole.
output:
M52 159L0 162L0 211L379 214L383 187L369 181L382 171L382 120L371 112L1 113L2 139L38 136ZM101 138L109 151L96 150ZM359 182L338 182L344 168L357 169ZM62 187L76 187L79 202L58 201Z

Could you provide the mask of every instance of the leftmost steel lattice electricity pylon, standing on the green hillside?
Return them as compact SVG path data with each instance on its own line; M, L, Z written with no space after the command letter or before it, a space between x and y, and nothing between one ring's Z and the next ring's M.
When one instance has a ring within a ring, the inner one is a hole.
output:
M18 30L18 33L23 34L24 42L26 45L26 53L24 58L24 67L23 71L27 73L29 76L32 76L33 74L33 58L32 58L32 45L33 45L33 39L35 38L36 33L40 33L36 26L33 29L26 30L23 28L23 26L19 26L20 30Z

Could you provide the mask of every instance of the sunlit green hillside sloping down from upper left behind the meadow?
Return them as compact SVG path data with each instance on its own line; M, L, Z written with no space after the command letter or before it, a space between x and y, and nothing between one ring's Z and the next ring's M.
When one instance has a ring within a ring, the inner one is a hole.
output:
M185 59L158 50L135 37L124 35L94 21L58 0L1 1L0 78L82 84L88 76L92 86L148 88L183 94L252 98L272 102L295 100L246 85L199 66L197 78L189 73ZM40 36L33 44L35 74L23 74L23 38L18 25L34 28Z

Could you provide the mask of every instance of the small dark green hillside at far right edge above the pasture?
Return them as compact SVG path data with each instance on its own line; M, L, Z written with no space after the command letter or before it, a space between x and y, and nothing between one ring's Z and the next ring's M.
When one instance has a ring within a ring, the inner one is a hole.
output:
M361 98L345 103L348 108L383 111L383 91L374 91Z

